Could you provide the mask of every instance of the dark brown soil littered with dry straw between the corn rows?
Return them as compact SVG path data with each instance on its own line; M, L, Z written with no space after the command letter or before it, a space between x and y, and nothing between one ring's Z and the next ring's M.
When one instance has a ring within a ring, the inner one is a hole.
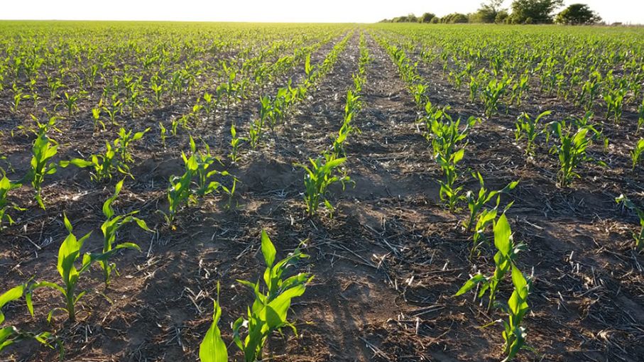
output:
M320 61L338 40L324 45L312 62ZM116 208L140 209L140 217L158 232L126 227L119 237L136 241L142 252L119 253L120 275L107 289L98 268L81 278L90 292L80 301L77 322L55 314L53 324L46 323L49 309L63 302L45 289L34 296L36 318L14 303L4 308L7 320L23 329L55 330L65 346L65 361L196 361L212 322L217 282L224 310L219 327L224 340L232 341L231 322L253 300L236 280L254 281L263 273L259 246L265 229L278 257L305 241L310 258L297 269L315 275L290 310L298 336L290 330L272 335L266 349L271 361L503 359L502 327L493 321L505 316L488 314L471 294L453 297L476 270L491 270L493 247L485 246L481 256L469 259L471 235L461 226L466 209L452 213L442 206L437 182L442 175L415 123L413 97L385 50L371 35L367 43L372 61L361 95L364 107L354 121L361 132L346 147L346 170L354 185L347 184L344 192L333 187L332 218L305 216L304 172L295 163L320 154L342 124L346 90L357 70L358 33L309 98L285 124L267 133L263 147L244 147L235 165L224 160L240 181L235 207L227 209L225 197L206 197L180 212L175 230L165 226L157 210L167 208L168 177L182 172L180 151L187 149L187 135L170 138L164 147L158 133L151 132L136 145L131 170L136 179L126 180ZM463 119L483 114L481 104L469 102L466 89L447 82L440 65L419 62L419 67L422 77L432 79L432 103L449 104L452 114ZM298 67L271 87L281 86L286 77L302 77L302 70ZM220 112L197 130L214 153L226 158L231 121L246 132L256 99ZM583 114L533 91L520 109L503 110L474 127L463 162L463 170L481 172L492 190L520 180L502 198L502 206L514 200L507 213L514 239L528 246L518 265L533 275L525 317L530 351L520 353L517 361L643 361L644 260L633 251L631 238L638 225L633 214L614 202L624 193L640 195L633 199L642 204L638 180L643 169L631 172L628 145L612 143L607 151L594 146L592 152L608 168L584 165L574 187L559 189L555 156L541 147L526 160L513 135L521 111L534 114L552 105L557 105L555 116ZM153 126L157 116L167 118L171 112L148 116L137 126ZM91 119L89 108L80 113ZM607 124L604 130L611 140L624 139L635 124L635 114L627 111L623 127ZM100 150L109 139L94 137L91 123L70 126L55 138L60 159ZM2 144L13 166L10 178L28 168L31 141L33 136L11 138L5 128ZM17 225L2 234L1 290L32 276L58 278L55 260L66 236L63 211L75 234L93 231L86 248L98 250L102 202L116 182L97 185L87 170L60 169L45 182L46 211L33 203L31 188L16 192L13 201L26 210L13 212ZM463 185L478 192L478 181L471 177ZM507 300L510 293L510 286L503 285L498 299ZM236 350L234 344L229 350ZM57 358L57 351L34 341L8 351L1 361ZM241 360L239 353L235 357Z

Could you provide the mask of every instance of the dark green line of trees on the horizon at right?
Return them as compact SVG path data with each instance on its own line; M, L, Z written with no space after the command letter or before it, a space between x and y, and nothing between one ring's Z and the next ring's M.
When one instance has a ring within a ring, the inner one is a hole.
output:
M503 8L503 0L488 0L474 13L450 13L436 16L423 13L409 14L381 23L505 23L505 24L551 24L591 25L601 22L601 17L586 4L572 4L557 13L563 0L514 0L510 9Z

